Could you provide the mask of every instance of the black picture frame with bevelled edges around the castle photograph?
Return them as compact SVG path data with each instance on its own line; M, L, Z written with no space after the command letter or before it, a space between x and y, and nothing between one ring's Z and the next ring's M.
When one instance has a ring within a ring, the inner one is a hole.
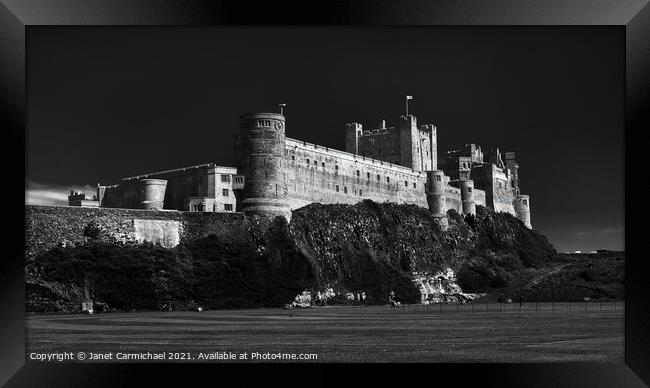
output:
M212 382L223 374L240 382L265 378L268 374L294 380L294 369L284 365L122 365L42 364L25 365L24 346L24 198L13 184L25 182L26 128L26 29L30 26L89 25L614 25L626 31L626 230L632 220L643 219L640 194L628 185L638 178L628 159L633 138L648 125L650 90L650 6L647 0L490 0L490 1L324 1L260 2L183 0L0 0L0 117L3 119L7 242L2 255L0 289L0 383L31 385L126 385L134 374L149 380L169 382L206 374ZM638 146L638 144L637 144ZM20 155L22 153L23 158ZM21 169L22 167L22 169ZM8 175L8 177L7 177ZM647 175L647 174L645 174ZM641 182L640 182L641 183ZM632 211L634 210L634 211ZM300 365L301 375L317 376L317 383L336 383L341 372L404 383L404 375L427 379L447 375L457 383L471 379L497 386L643 386L650 384L650 305L647 264L643 250L629 233L625 235L626 311L625 364L434 364L409 366L408 372L391 373L392 366ZM638 255L638 256L634 256ZM191 370L187 370L191 368ZM302 377L301 377L302 378Z

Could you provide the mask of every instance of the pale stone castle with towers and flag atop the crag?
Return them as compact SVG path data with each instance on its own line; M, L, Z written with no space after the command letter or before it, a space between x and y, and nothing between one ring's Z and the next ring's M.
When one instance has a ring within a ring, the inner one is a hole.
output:
M71 192L71 206L235 212L289 219L316 202L409 203L427 207L443 223L448 209L475 214L476 205L507 212L528 228L530 198L519 191L514 152L487 155L468 144L438 155L437 129L403 115L397 126L346 127L339 151L285 136L285 116L249 113L235 136L236 167L214 163L98 184L93 199Z

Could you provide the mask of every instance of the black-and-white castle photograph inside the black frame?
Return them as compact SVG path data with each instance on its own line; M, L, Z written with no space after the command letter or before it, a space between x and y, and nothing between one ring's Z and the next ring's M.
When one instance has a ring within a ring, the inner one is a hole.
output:
M26 40L26 361L624 361L623 29Z

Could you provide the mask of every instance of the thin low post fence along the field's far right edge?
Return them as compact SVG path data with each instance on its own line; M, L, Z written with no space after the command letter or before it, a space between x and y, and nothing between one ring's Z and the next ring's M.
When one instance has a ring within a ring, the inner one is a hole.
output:
M529 302L523 303L436 303L390 307L394 312L409 313L544 313L607 312L625 310L625 302Z

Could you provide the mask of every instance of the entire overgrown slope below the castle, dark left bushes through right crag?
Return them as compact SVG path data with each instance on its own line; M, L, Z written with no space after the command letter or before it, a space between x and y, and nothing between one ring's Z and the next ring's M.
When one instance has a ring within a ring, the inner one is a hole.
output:
M391 292L401 303L462 301L557 259L542 235L481 206L467 219L449 211L444 230L427 209L371 201L311 204L290 223L231 217L237 233L195 218L182 219L180 241L165 240L170 225L147 221L116 243L92 237L105 226L93 229L87 216L87 242L62 236L79 242L26 250L28 310L66 311L88 295L124 310L383 304ZM162 244L140 244L138 233Z

